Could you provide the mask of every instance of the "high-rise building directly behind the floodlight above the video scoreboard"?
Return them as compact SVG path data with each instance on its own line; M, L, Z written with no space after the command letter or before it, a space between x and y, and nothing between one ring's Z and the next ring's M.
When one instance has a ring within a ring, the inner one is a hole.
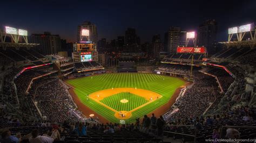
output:
M98 33L97 33L97 26L91 22L83 22L81 25L77 26L77 42L79 43L81 40L81 31L89 30L89 39L92 43L97 43Z

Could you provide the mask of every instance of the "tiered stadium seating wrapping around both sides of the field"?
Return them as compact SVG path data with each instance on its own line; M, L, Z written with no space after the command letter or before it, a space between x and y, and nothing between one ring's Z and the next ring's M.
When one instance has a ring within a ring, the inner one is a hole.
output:
M22 52L16 49L0 51L0 63L3 65L9 61L9 57L14 61L28 60L32 61L26 65L16 66L6 71L3 78L3 91L1 93L1 119L0 128L9 127L12 135L21 133L23 142L28 141L25 135L31 133L33 129L38 129L39 134L51 135L52 127L57 124L60 132L60 138L55 142L159 142L163 141L157 135L147 134L138 130L137 125L133 124L100 124L97 119L83 117L82 113L77 110L76 104L69 95L68 89L63 81L58 78L58 72L43 76L55 71L53 68L43 67L24 71L17 78L15 76L24 67L42 65L43 55L32 49L22 49ZM234 126L256 126L256 110L253 106L243 105L250 101L250 93L245 91L246 80L248 76L241 64L255 66L255 49L250 48L231 48L215 54L215 58L237 60L238 63L228 61L212 62L217 65L225 66L233 74L228 74L224 69L206 66L194 67L193 83L188 85L180 92L177 101L170 106L164 114L167 125L164 127L164 135L175 140L192 141L193 138L188 134L196 133L196 140L204 142L205 139L212 139L214 129L227 125ZM8 57L8 58L7 58ZM62 58L56 55L57 58ZM201 55L195 55L195 59L203 58ZM188 54L171 54L163 60L165 62L189 63L191 55ZM67 77L76 78L95 74L105 73L102 66L97 62L79 62L73 64L71 61L62 61L60 70L62 74L71 72ZM66 69L75 68L86 70L84 72L73 72ZM152 66L151 66L152 67ZM190 66L174 65L170 63L160 63L154 71L163 73L175 73L183 75L190 74ZM92 69L87 71L87 69ZM97 70L93 70L97 69ZM152 69L152 68L151 68ZM215 77L200 73L214 75ZM152 70L150 70L152 71ZM43 76L43 77L41 77ZM32 78L37 78L32 81ZM219 83L218 83L218 82ZM221 92L221 88L224 92ZM26 92L28 90L28 92ZM40 112L39 112L40 111ZM42 119L44 119L42 121ZM74 129L78 122L84 122L87 134L79 136ZM199 124L200 123L200 124ZM46 124L46 126L44 126ZM112 125L111 125L112 124ZM174 126L174 125L190 125ZM139 124L139 127L143 126ZM109 133L113 128L114 133ZM153 127L153 125L152 125ZM120 131L119 131L119 129ZM196 128L196 132L195 132ZM223 127L226 130L225 127ZM239 131L241 139L255 138L253 128L234 127ZM223 133L226 134L226 133ZM17 135L18 136L18 135Z

